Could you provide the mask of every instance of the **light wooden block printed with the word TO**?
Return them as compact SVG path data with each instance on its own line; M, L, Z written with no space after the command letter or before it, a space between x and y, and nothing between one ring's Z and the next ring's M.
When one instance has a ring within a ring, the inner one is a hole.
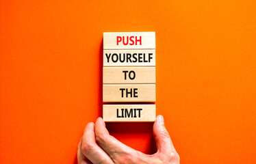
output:
M155 67L103 67L103 84L155 83Z

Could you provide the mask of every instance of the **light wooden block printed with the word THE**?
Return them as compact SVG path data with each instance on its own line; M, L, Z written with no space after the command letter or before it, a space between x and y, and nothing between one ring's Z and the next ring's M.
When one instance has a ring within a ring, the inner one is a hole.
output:
M103 102L155 102L155 84L104 84Z

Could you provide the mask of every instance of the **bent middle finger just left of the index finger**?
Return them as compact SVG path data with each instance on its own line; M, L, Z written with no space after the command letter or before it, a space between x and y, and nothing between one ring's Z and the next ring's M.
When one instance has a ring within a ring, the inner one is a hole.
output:
M95 141L94 123L89 123L84 130L84 135L81 139L81 152L92 163L113 163L110 156L102 150Z

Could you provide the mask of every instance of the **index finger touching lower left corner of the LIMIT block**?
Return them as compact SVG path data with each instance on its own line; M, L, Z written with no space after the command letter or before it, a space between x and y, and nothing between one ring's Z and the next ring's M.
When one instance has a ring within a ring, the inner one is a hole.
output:
M133 156L133 159L135 159L138 154L142 155L142 153L126 146L124 143L112 137L107 131L105 122L102 118L98 118L95 123L95 135L98 145L110 155L115 163L120 162L118 160L122 159L123 156Z

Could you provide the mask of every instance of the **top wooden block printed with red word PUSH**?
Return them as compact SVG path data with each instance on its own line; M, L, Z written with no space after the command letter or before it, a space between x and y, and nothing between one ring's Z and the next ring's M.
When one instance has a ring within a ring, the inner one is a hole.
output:
M155 32L103 33L103 49L155 49Z

